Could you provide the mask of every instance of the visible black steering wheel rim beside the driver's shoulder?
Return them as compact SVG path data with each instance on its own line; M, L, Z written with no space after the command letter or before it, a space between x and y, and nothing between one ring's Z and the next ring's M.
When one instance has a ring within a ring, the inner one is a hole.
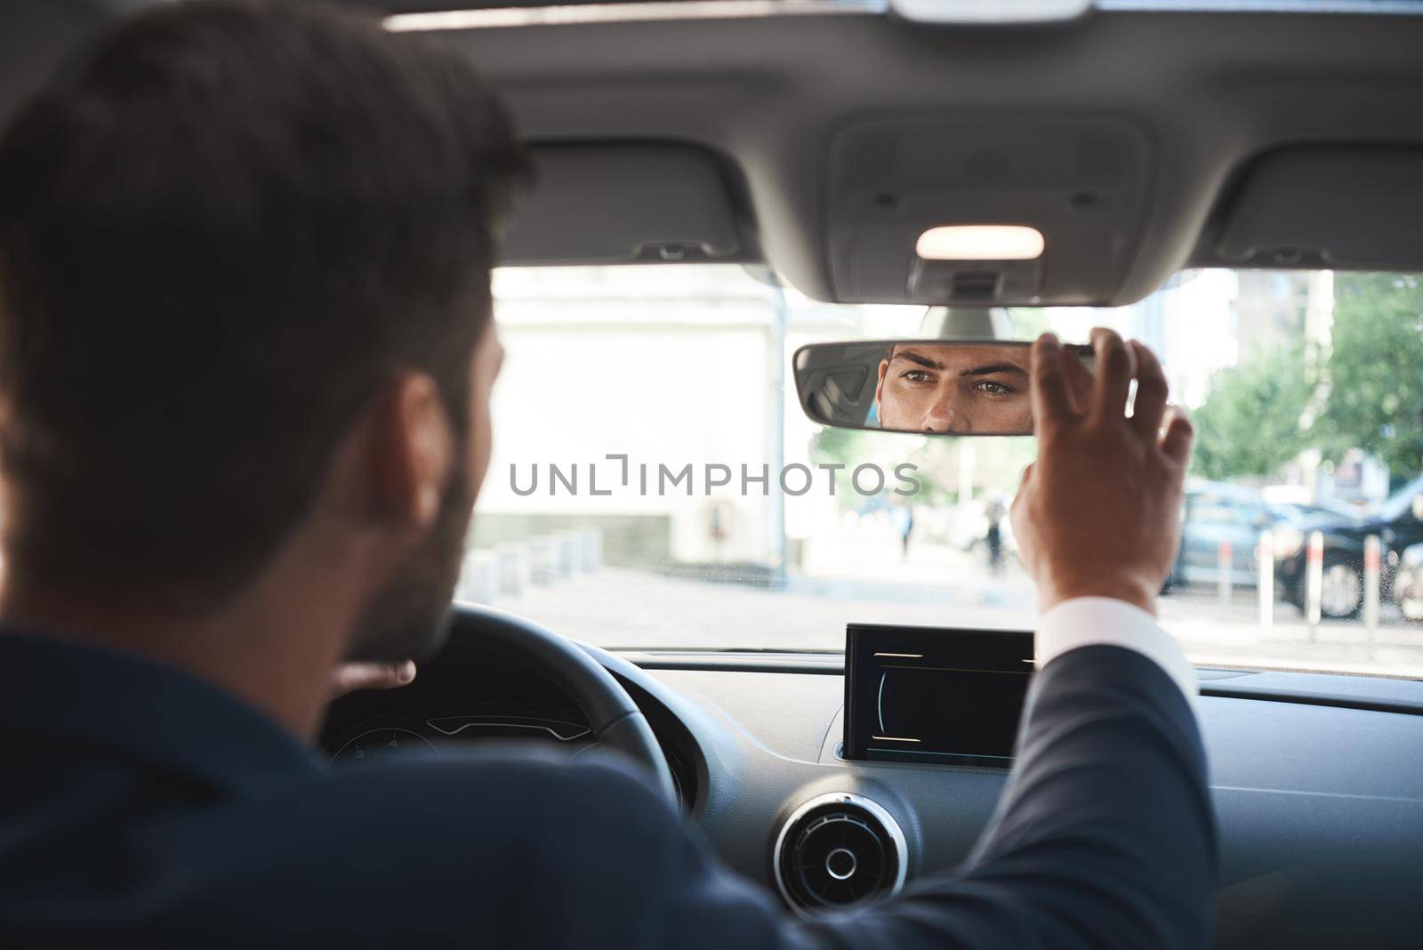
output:
M628 690L572 640L502 610L457 603L450 640L522 661L558 685L582 710L599 745L646 768L667 801L676 785L647 718Z

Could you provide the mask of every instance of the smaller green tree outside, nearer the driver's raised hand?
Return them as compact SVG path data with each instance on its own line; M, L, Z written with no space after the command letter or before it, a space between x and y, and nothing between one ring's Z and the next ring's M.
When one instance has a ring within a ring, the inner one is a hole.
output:
M1192 414L1192 469L1205 478L1269 475L1305 448L1313 395L1303 350L1220 370Z

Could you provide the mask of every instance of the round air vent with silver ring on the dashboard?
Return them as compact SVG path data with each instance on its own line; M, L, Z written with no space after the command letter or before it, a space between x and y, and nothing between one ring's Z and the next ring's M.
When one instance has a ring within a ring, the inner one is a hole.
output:
M850 792L803 804L776 836L776 886L800 912L844 907L904 886L906 850L899 823Z

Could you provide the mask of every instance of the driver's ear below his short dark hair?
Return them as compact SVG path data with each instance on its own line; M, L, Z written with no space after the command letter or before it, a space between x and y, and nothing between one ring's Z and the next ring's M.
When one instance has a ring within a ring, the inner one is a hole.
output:
M374 511L416 528L431 525L454 461L454 432L434 378L397 377L371 407L369 425Z

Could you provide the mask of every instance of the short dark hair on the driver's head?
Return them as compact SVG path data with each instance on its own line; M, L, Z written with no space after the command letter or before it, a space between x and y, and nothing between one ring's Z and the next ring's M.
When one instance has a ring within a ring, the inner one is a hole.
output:
M396 373L431 373L462 425L529 175L427 37L290 3L102 36L0 142L6 567L213 607Z

